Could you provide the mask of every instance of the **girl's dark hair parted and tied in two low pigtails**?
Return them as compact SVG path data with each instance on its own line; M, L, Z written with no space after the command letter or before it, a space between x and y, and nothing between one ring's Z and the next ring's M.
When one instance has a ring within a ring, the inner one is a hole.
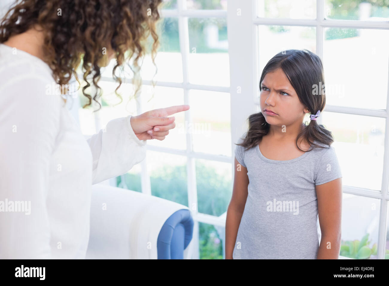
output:
M259 81L259 90L261 90L261 82L268 72L273 72L277 68L281 68L286 74L289 82L296 91L300 101L308 107L311 114L316 114L317 111L323 111L326 105L326 95L324 89L324 71L322 62L316 54L308 50L286 50L282 51L268 61ZM318 90L321 88L321 90ZM266 122L265 116L261 112L251 114L248 118L249 130L243 142L236 144L245 147L246 150L259 144L259 141L264 135L269 132L270 125ZM304 123L303 123L304 124ZM305 124L304 124L305 125ZM317 140L319 143L328 145L334 142L333 136L323 125L319 125L315 120L311 120L306 128L298 134L296 146L300 137L306 139L311 148L308 151L318 147L327 148L314 143Z

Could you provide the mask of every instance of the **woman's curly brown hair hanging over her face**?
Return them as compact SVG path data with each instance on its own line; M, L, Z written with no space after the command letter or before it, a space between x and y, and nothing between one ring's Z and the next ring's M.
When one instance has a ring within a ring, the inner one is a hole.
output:
M93 100L100 105L96 100L102 93L98 86L101 77L98 63L108 59L104 49L109 48L116 58L112 77L119 83L115 93L120 98L117 90L122 80L116 75L116 69L128 64L133 78L137 78L141 66L138 61L147 53L150 34L154 40L151 58L156 67L154 59L159 47L156 23L160 18L158 5L161 3L162 0L16 0L0 22L0 43L35 25L41 26L44 61L53 71L56 83L67 85L72 75L79 82L76 70L82 61L86 81L82 93L89 99L89 104L83 107L92 103L91 95L85 92L91 84L96 88ZM135 84L135 95L141 82Z

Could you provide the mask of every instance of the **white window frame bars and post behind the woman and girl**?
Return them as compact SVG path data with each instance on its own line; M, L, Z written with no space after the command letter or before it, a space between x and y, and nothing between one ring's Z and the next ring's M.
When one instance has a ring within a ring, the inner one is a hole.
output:
M232 156L213 155L198 153L193 151L192 135L186 134L187 149L177 150L166 147L147 145L147 150L177 154L187 157L187 192L188 206L191 209L195 221L193 229L193 258L199 259L199 228L198 223L207 223L214 225L217 229L225 227L226 213L217 217L198 212L197 206L197 187L195 160L206 159L220 162L231 163L232 180L234 177L234 151L235 143L238 138L247 131L246 119L252 113L258 112L258 25L286 25L286 26L314 26L316 27L316 54L322 58L324 28L369 28L369 29L389 29L389 22L378 21L352 21L352 20L330 20L324 19L324 0L317 0L317 18L316 19L273 19L258 18L256 15L256 0L237 1L228 0L227 11L224 10L186 10L186 0L177 0L177 9L166 9L161 11L162 18L177 18L179 25L180 51L182 55L182 82L163 82L158 81L157 86L166 86L182 88L184 91L184 104L190 104L188 91L190 89L199 89L205 91L220 91L230 93L231 100L231 154ZM241 15L238 16L238 9ZM230 86L208 86L201 84L191 84L188 80L188 57L189 57L189 32L188 18L226 18L228 33L228 53L230 59ZM388 63L389 65L389 63ZM388 75L389 77L389 75ZM82 76L81 76L82 78ZM101 81L114 82L111 77L102 77ZM143 80L144 85L151 85L150 80ZM238 93L240 91L240 93ZM145 112L141 104L137 103L138 114ZM382 192L370 189L343 186L344 193L360 195L381 200L380 205L380 223L378 230L378 250L377 258L384 258L385 237L386 237L386 219L387 205L389 200L388 182L389 182L389 153L388 153L388 112L389 112L389 78L386 110L362 109L353 107L340 107L335 105L326 105L326 111L338 112L343 114L355 114L363 116L373 116L385 118L385 140L384 140L384 169L382 176ZM102 126L100 124L99 112L95 112L96 132ZM191 110L185 112L185 120L191 122ZM321 124L321 118L318 119ZM151 195L150 177L147 174L147 163L141 163L141 185L142 192ZM233 182L233 181L232 181ZM232 185L231 185L232 188ZM223 235L223 257L225 255L225 238Z

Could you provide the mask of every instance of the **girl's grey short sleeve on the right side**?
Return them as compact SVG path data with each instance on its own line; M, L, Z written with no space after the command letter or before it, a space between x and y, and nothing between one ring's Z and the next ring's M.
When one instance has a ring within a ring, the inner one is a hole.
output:
M324 154L319 159L315 177L315 185L321 185L342 177L342 171L336 156L335 148L330 146L323 150Z

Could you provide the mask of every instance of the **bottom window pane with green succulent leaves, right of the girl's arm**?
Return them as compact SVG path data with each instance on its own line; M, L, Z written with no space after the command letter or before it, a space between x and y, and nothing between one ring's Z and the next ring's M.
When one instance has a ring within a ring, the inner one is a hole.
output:
M340 255L377 259L380 200L343 193Z

